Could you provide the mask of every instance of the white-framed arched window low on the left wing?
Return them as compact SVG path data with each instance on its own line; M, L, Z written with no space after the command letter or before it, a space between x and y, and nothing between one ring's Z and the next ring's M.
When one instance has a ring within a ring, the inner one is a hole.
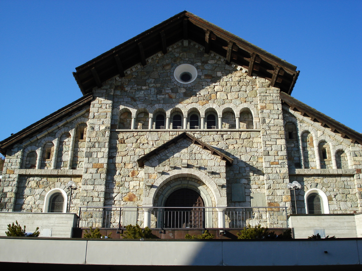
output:
M51 189L44 198L43 212L64 213L67 211L67 193L59 188Z

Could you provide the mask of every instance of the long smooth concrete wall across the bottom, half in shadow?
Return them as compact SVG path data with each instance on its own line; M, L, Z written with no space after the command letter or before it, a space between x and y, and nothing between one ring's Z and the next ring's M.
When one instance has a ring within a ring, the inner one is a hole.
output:
M87 265L318 266L362 262L362 240L356 239L139 241L0 237L0 251L0 262ZM288 257L291 251L298 251L298 256Z

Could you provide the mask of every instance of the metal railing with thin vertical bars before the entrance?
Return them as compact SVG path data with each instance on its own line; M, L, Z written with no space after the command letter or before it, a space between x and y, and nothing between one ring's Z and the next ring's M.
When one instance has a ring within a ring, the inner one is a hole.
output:
M80 228L125 228L129 224L164 229L289 226L287 207L79 207Z

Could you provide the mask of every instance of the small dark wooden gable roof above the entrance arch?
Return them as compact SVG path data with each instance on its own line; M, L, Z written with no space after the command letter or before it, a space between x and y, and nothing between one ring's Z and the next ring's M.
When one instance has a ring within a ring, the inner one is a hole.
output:
M199 145L202 149L208 150L211 152L212 155L218 156L221 160L224 160L227 165L232 165L233 159L227 156L226 154L223 154L221 151L216 150L215 148L211 147L210 145L207 145L206 143L202 142L201 140L191 136L190 134L184 132L182 134L179 134L178 136L172 138L171 140L167 141L160 147L157 147L156 149L148 152L148 154L143 155L141 158L137 160L138 166L143 167L144 162L147 160L150 160L152 157L158 155L159 153L167 150L169 147L175 145L177 142L180 142L182 139L187 139L194 143L195 145Z

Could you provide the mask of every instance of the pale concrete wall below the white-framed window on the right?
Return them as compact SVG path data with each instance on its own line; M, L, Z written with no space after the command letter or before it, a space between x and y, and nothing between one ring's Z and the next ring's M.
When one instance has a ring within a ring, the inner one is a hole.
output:
M360 218L362 222L362 217ZM334 215L291 215L289 227L293 228L294 238L308 238L314 233L314 229L324 229L325 236L336 238L356 238L356 222L353 214ZM359 225L361 228L361 225ZM361 231L362 229L360 229Z

